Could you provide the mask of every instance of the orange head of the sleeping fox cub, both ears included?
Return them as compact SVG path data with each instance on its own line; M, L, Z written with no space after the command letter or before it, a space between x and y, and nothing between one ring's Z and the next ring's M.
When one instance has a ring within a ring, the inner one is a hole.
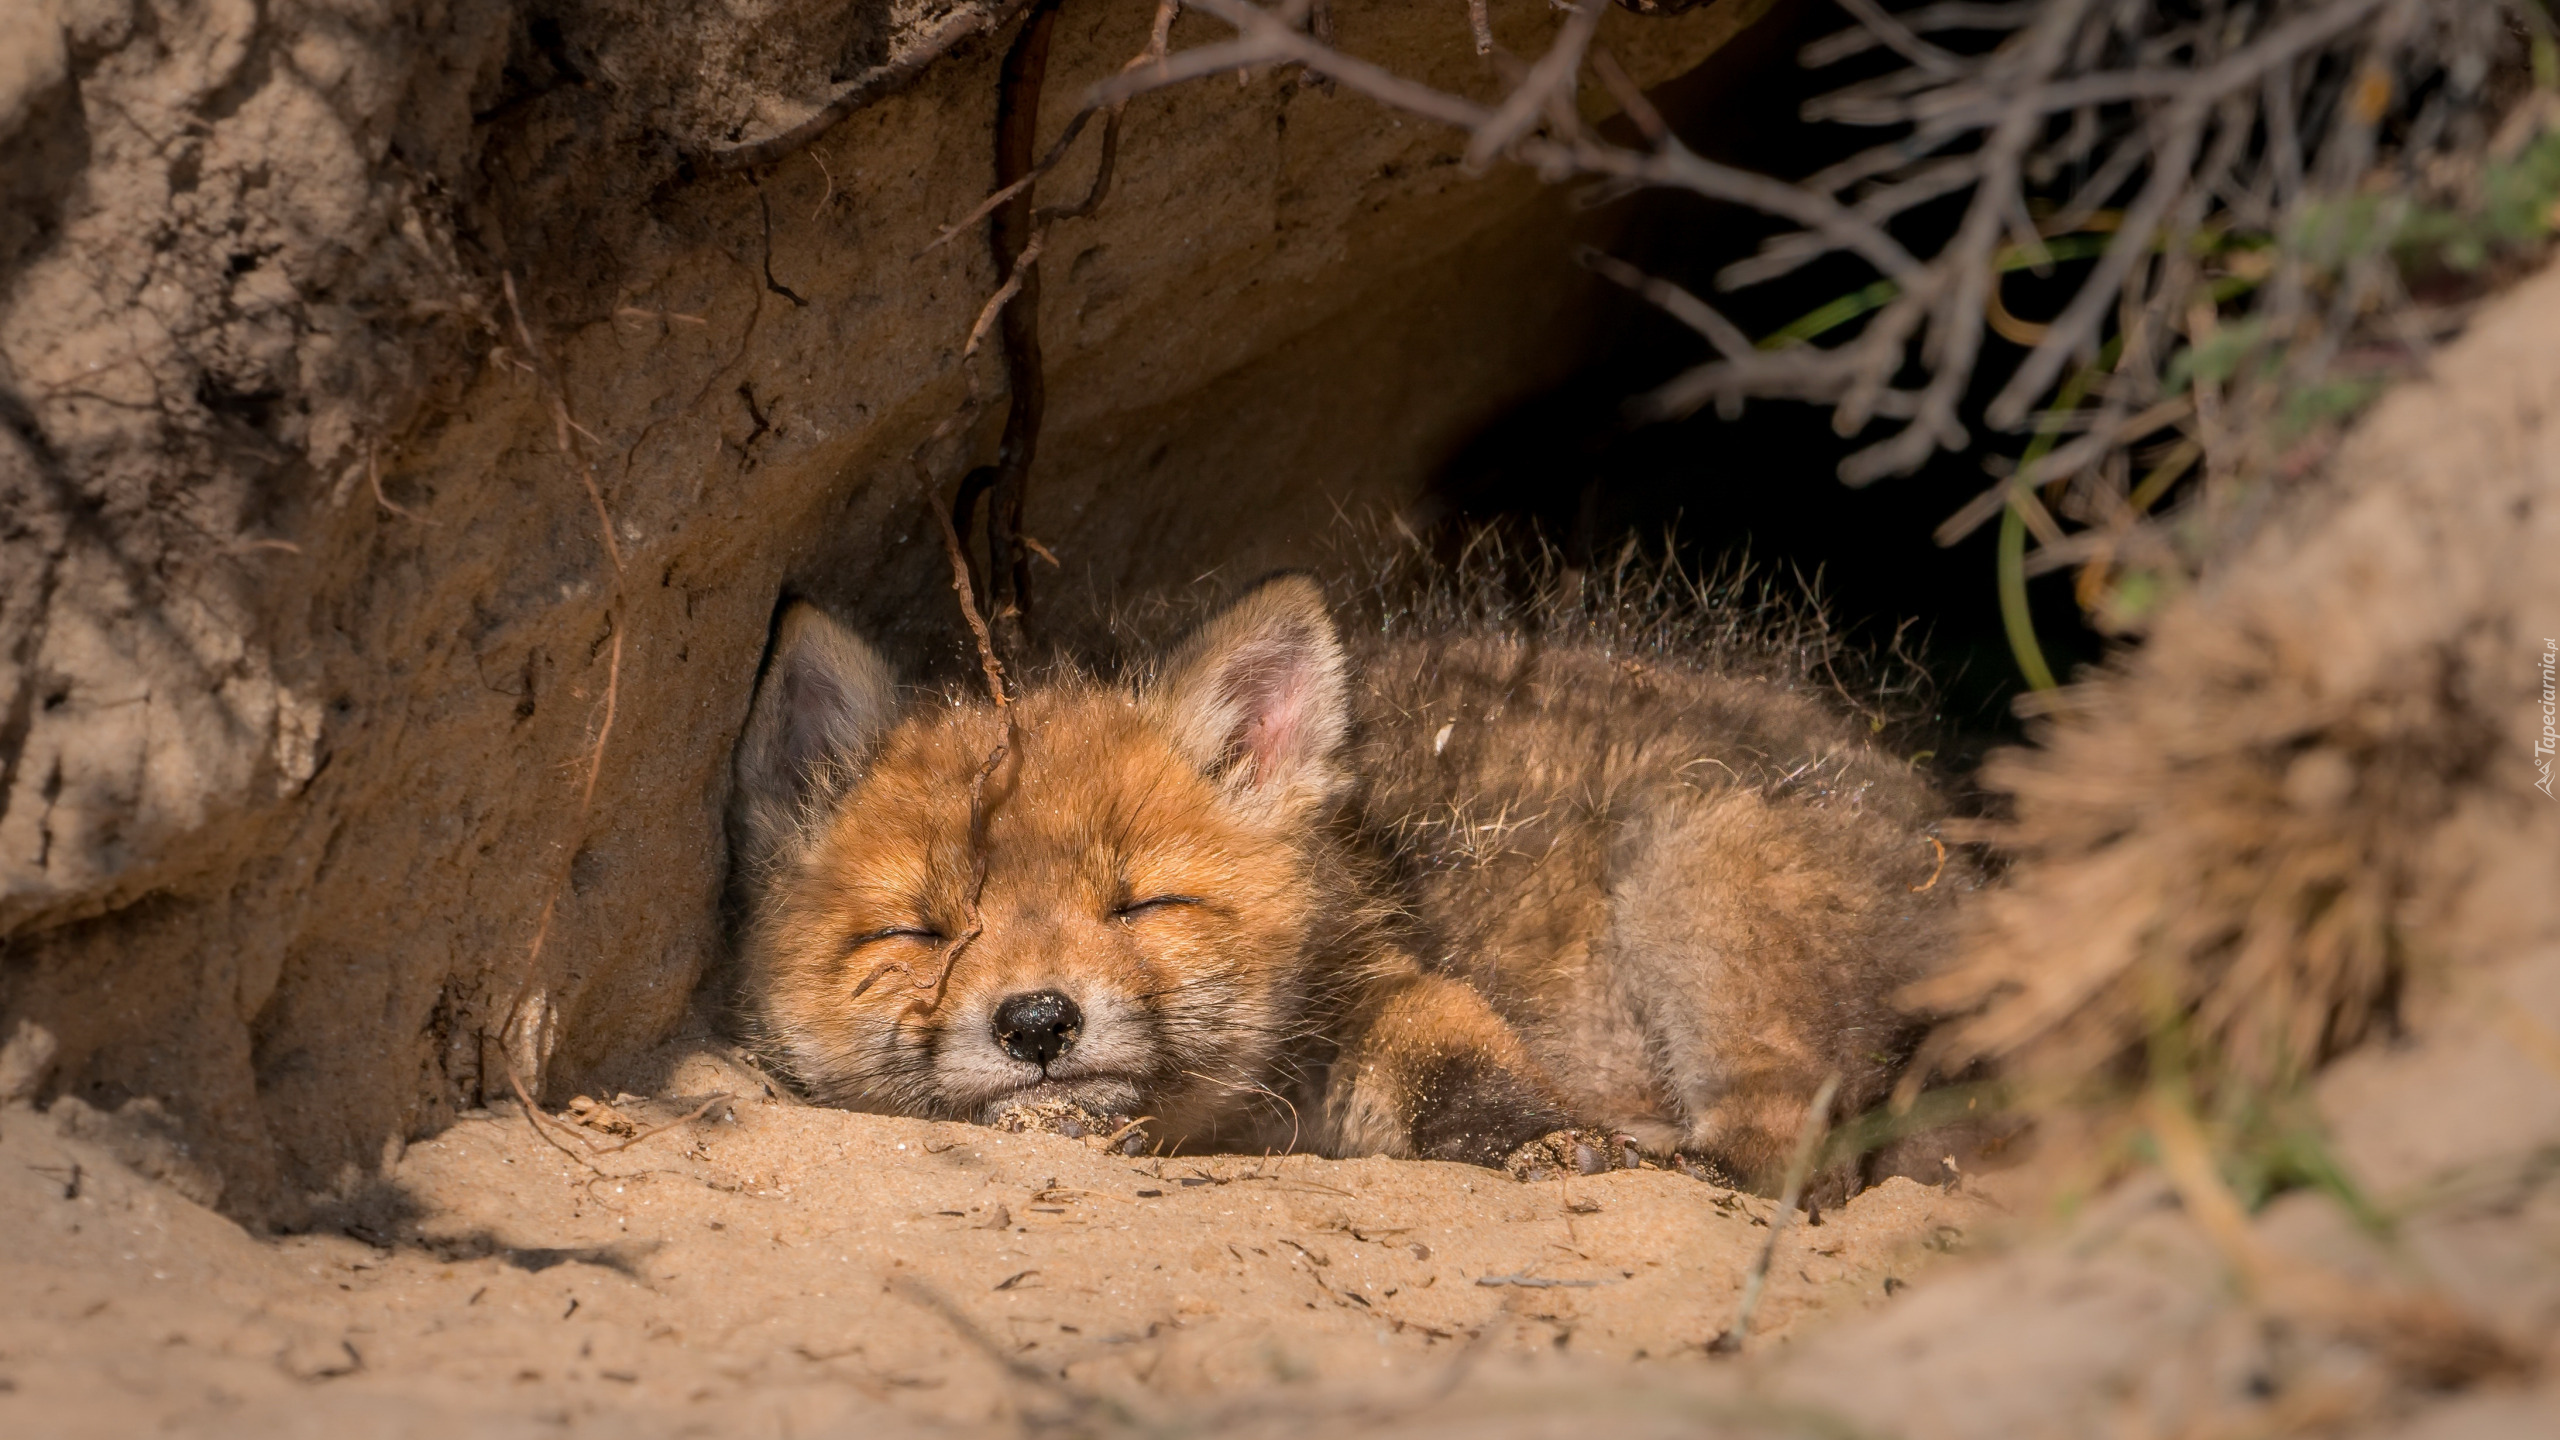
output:
M1347 676L1316 584L1247 594L1132 687L906 705L809 605L737 748L755 1025L819 1099L1068 1099L1188 1133L1300 1017Z

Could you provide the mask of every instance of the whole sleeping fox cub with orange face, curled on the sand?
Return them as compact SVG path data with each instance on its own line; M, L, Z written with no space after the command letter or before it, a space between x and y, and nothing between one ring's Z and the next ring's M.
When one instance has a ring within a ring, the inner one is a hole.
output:
M860 1109L1487 1166L1592 1127L1766 1186L1907 1051L1935 820L1802 692L1487 628L1352 656L1300 577L1011 712L794 605L737 753L748 1007Z

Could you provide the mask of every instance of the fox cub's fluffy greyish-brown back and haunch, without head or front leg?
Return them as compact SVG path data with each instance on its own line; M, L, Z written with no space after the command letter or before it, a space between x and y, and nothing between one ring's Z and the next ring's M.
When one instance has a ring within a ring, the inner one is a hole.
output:
M1362 664L1362 822L1587 1125L1766 1176L1864 1104L1938 963L1943 807L1810 687L1475 630Z

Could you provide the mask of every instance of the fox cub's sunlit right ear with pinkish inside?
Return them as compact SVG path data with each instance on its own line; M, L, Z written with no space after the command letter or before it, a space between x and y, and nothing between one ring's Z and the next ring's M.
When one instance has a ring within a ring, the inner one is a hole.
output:
M1300 810L1341 787L1349 676L1324 592L1300 574L1260 584L1165 661L1147 697L1190 764L1239 799Z

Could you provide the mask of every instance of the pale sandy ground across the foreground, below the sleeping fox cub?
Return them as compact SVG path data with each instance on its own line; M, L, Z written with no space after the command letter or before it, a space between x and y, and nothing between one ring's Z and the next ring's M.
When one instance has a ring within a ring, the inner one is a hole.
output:
M1772 1202L1677 1174L1129 1158L712 1056L666 1089L466 1115L282 1238L187 1199L148 1109L0 1109L0 1435L2560 1435L2552 945L2307 1097L2363 1217L2225 1227L2130 1130L2099 1189L2104 1125L2056 1133L1784 1230L1741 1355L1705 1343Z

